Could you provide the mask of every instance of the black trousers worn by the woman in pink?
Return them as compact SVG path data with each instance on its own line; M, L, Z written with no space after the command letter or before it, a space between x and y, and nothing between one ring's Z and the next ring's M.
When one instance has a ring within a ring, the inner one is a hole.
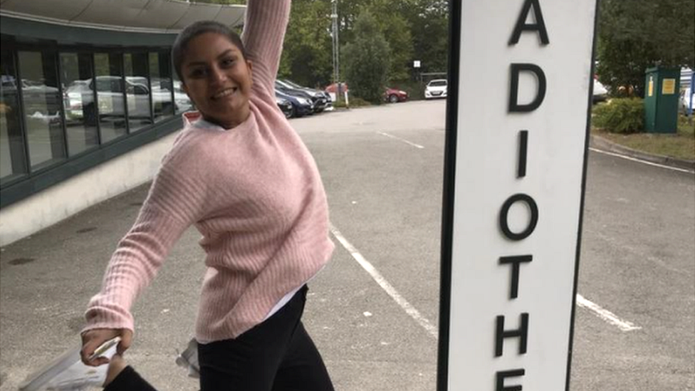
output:
M304 286L280 311L233 340L198 345L201 391L334 391L301 323ZM156 391L127 367L106 391Z

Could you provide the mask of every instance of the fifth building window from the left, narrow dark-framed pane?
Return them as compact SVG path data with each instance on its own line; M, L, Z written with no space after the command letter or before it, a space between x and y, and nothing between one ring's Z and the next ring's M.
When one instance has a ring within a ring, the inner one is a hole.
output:
M128 126L135 132L152 124L150 81L147 75L147 53L125 53L125 96L128 103Z

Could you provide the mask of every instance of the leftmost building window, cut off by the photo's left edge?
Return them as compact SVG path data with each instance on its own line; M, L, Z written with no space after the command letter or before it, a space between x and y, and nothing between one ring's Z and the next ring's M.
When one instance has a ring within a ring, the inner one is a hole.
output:
M0 51L0 184L26 174L19 113L19 81L11 51Z

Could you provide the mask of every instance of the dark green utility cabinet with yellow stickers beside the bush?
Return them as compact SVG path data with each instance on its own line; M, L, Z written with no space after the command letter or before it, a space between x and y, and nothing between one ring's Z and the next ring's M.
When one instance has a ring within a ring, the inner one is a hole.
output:
M644 126L649 133L675 133L678 126L679 68L649 68L644 84Z

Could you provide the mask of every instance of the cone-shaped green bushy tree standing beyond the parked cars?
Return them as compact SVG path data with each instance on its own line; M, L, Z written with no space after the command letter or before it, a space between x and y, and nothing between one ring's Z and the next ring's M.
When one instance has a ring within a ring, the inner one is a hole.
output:
M355 21L355 37L343 49L345 78L357 98L380 103L390 69L390 48L370 11Z

